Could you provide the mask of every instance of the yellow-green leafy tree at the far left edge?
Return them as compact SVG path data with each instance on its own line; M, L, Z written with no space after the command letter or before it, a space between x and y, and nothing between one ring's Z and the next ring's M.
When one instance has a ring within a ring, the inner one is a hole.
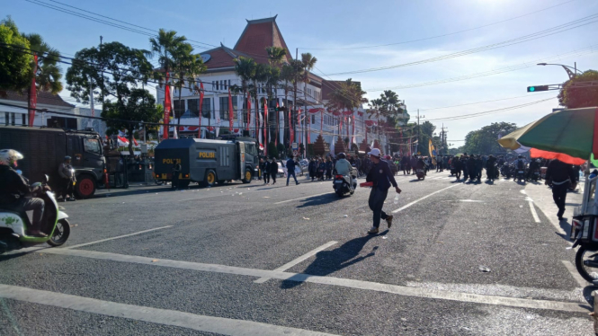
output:
M31 85L31 44L22 37L13 20L0 22L0 97L6 91L21 91Z

